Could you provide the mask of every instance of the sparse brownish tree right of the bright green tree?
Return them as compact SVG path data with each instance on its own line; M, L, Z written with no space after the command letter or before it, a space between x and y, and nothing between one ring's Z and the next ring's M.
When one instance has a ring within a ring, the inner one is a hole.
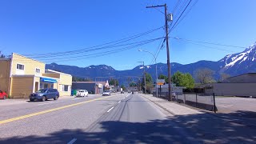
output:
M202 84L215 82L213 78L214 71L208 68L201 68L194 71L194 78Z

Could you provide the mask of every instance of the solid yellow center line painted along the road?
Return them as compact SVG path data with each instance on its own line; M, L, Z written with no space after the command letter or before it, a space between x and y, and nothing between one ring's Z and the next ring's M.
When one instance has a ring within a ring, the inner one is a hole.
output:
M115 95L109 96L109 97L104 97L104 98L110 98L110 97L114 97L114 96ZM18 120L24 119L24 118L30 118L30 117L33 117L33 116L36 116L36 115L40 115L40 114L50 113L50 112L53 112L53 111L56 111L56 110L62 110L62 109L65 109L65 108L68 108L68 107L72 107L72 106L82 105L83 103L87 103L87 102L94 102L94 101L97 101L97 100L100 100L100 99L103 99L103 98L96 98L96 99L92 99L92 100L85 101L85 102L78 102L78 103L70 104L70 105L67 105L67 106L61 106L61 107L57 107L57 108L50 109L50 110L44 110L44 111L40 111L40 112L33 113L33 114L26 114L26 115L22 115L22 116L16 117L16 118L10 118L10 119L6 119L6 120L2 120L2 121L0 121L0 125L4 124L4 123L7 123L7 122L18 121Z

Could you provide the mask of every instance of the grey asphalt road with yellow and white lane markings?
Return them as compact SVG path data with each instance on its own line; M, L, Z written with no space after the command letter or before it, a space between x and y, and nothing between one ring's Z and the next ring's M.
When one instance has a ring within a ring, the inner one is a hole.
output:
M0 143L191 143L195 136L138 94L21 102L0 109Z

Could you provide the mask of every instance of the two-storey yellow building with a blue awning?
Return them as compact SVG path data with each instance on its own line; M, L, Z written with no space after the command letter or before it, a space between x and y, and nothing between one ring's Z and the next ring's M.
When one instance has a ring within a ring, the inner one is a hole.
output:
M72 76L45 67L45 63L20 54L0 58L0 90L10 98L28 98L41 88L57 89L60 96L70 95Z

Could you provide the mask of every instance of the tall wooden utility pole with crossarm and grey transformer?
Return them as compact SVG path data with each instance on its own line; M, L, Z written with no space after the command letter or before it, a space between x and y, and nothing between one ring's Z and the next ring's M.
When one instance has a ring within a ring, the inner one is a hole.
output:
M170 81L170 50L169 50L169 36L168 36L168 21L172 20L172 15L170 14L171 18L167 18L167 6L164 5L158 5L158 6L146 6L146 8L155 8L155 7L165 7L165 25L166 25L166 53L167 53L167 66L168 66L168 93L169 93L169 101L172 101L171 97L171 81Z

